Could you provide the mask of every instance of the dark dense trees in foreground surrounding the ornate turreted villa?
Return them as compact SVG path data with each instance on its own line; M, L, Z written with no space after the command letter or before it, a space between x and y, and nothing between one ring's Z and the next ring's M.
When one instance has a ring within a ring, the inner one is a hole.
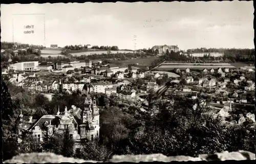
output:
M243 126L223 123L219 117L207 114L208 108L199 100L183 96L166 95L162 98L150 93L147 104L126 101L116 97L97 95L100 108L100 136L84 142L81 149L73 151L74 141L64 134L56 134L38 143L31 134L17 141L17 124L20 106L23 115L56 115L65 106L83 108L85 95L74 91L72 95L56 93L49 101L39 93L2 82L3 99L3 156L4 160L18 153L54 152L64 156L104 161L114 154L190 155L214 152L247 150L255 152L254 131L250 133L248 122ZM199 95L200 96L200 95ZM143 106L145 112L140 111ZM158 110L158 113L155 113ZM242 109L244 112L248 108ZM254 107L251 109L254 110Z

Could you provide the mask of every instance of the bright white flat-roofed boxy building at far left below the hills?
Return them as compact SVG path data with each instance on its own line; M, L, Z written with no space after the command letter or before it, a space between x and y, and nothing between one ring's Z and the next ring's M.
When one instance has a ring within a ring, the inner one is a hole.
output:
M38 61L34 61L34 62L20 62L20 63L15 63L15 64L11 64L8 69L9 70L20 70L20 71L24 71L24 70L38 70Z

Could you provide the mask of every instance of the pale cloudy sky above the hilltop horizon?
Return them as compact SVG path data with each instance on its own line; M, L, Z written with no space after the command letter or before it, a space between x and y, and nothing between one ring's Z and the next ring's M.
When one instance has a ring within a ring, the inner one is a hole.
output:
M1 4L1 41L254 48L253 12L253 1Z

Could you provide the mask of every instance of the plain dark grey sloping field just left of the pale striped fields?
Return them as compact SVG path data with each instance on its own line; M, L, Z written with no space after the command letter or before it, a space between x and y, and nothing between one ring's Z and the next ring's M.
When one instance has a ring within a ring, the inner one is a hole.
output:
M111 63L115 63L115 64L120 64L120 65L132 65L132 64L137 64L141 65L141 66L150 66L152 62L154 62L155 60L157 60L159 57L147 57L147 58L138 58L138 59L127 59L127 60L112 60L110 61Z

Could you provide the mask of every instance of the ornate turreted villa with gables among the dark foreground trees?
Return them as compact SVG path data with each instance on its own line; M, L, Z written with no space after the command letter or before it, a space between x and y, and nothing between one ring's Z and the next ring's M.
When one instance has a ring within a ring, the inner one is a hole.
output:
M72 105L70 110L66 106L64 112L58 110L57 115L44 115L34 123L31 121L32 118L24 121L22 114L19 119L19 127L22 128L19 128L19 133L22 130L31 131L40 142L44 142L47 136L54 135L55 132L62 133L65 130L69 130L76 143L81 143L83 139L92 141L99 136L99 108L96 106L95 98L92 100L90 95L84 100L82 110ZM26 128L23 124L26 124Z

